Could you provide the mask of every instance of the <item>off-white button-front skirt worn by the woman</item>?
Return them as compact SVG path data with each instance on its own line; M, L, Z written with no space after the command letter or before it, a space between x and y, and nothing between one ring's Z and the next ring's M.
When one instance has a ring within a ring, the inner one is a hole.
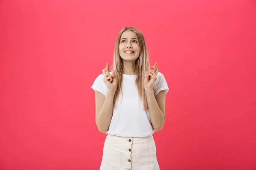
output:
M160 170L153 136L128 138L108 134L100 170Z

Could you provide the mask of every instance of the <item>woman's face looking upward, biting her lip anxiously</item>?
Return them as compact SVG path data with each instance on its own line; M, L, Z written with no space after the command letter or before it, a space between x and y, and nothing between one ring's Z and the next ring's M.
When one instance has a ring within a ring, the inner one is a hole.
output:
M139 43L134 31L124 31L119 44L119 54L122 59L135 61L140 55Z

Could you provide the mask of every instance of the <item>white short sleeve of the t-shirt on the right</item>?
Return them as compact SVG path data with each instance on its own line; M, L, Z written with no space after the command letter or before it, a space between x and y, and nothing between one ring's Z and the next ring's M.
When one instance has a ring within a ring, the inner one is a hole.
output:
M167 93L169 91L166 79L164 78L163 74L158 72L157 74L157 80L154 83L154 95L156 96L160 91L165 90Z

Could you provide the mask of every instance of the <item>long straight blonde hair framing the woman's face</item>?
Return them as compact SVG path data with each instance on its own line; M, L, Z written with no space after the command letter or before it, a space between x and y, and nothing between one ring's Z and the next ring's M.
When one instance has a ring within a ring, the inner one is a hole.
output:
M134 71L135 71L135 74L137 75L136 85L139 91L139 99L140 101L143 101L143 108L146 111L148 109L148 102L147 102L147 97L144 90L144 78L145 78L146 71L150 70L148 49L146 47L143 34L137 28L134 28L134 27L122 28L122 30L119 32L119 34L116 37L116 44L115 44L115 51L114 51L114 58L113 58L113 74L115 74L117 85L116 85L116 93L113 100L113 108L116 107L116 103L118 101L120 91L122 92L123 65L122 65L122 58L119 54L119 44L120 44L120 38L122 33L127 30L134 31L139 43L140 55L135 61Z

